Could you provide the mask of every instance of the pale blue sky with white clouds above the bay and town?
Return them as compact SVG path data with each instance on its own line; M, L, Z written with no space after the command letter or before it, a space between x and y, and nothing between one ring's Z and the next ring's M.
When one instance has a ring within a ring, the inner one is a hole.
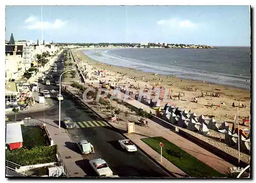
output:
M42 15L42 16L41 16ZM6 6L6 40L250 46L248 6Z

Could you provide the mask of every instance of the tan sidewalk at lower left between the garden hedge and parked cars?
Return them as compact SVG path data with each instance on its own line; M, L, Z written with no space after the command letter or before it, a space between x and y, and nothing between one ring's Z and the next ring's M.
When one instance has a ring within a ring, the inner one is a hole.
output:
M51 138L54 141L54 144L58 146L58 151L60 158L66 166L66 169L69 172L70 177L83 177L86 176L86 173L76 165L75 162L83 161L82 155L71 150L66 146L66 142L72 142L72 139L68 135L66 129L58 128L57 124L46 121L46 127Z

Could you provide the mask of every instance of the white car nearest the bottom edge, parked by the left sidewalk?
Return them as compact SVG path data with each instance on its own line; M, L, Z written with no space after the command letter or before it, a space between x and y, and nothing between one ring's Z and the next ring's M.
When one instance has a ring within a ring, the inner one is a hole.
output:
M89 164L99 176L107 177L113 175L113 172L108 164L106 164L106 162L102 159L90 160Z

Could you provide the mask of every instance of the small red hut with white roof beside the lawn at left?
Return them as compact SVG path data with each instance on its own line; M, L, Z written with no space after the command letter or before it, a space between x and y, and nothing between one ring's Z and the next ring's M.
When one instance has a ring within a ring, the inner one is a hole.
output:
M19 122L6 124L5 144L8 144L11 150L23 146L22 127Z

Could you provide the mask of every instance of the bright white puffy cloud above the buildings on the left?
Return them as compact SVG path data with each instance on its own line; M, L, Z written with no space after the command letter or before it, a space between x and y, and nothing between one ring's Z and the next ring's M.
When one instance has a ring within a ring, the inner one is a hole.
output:
M35 16L30 16L25 20L27 23L27 29L58 29L67 23L61 19L56 19L53 22L50 21L40 21Z

